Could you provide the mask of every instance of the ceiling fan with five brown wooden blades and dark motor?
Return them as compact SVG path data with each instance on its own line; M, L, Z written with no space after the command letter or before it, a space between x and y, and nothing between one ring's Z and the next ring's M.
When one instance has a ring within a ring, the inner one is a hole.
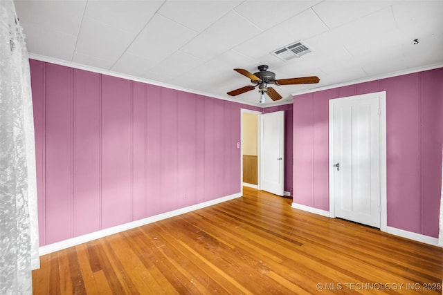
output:
M320 79L316 76L311 77L299 77L299 78L289 78L289 79L275 79L275 74L273 72L268 71L268 66L263 64L262 66L258 66L257 73L249 73L248 70L244 70L242 68L235 68L234 70L237 73L240 73L249 79L253 85L244 86L242 88L235 89L233 91L229 91L228 95L236 96L248 91L255 89L258 86L258 92L261 93L260 104L264 103L264 93L266 93L272 100L282 99L282 95L280 95L274 88L269 87L269 84L275 85L290 85L290 84L315 84L320 81Z

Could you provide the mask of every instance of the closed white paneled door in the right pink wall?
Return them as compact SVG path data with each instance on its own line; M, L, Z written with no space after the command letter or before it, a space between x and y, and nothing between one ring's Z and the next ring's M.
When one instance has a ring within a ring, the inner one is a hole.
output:
M380 227L380 95L329 101L333 115L333 211L345 218Z

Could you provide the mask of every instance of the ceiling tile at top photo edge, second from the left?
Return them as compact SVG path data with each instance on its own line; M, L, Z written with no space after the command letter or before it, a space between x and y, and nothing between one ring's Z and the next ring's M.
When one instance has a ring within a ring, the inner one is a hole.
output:
M84 15L127 32L138 33L164 1L88 1Z

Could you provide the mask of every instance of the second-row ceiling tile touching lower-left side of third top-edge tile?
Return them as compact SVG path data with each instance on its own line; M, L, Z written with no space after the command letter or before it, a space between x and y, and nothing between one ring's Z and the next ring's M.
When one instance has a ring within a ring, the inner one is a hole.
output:
M145 59L161 61L196 35L197 32L156 14L129 46L127 52Z

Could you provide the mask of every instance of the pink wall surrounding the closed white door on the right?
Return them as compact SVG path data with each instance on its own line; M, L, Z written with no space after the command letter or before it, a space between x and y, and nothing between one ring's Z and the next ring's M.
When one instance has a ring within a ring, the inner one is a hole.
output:
M443 68L294 97L293 202L329 211L328 100L386 91L388 226L438 236Z

